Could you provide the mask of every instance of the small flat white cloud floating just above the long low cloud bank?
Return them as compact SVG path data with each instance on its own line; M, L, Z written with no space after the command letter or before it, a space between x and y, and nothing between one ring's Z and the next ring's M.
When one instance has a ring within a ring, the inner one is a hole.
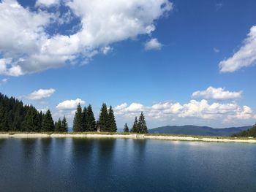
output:
M201 97L204 99L240 99L242 96L242 91L225 91L225 88L213 88L208 87L204 91L195 91L192 93L192 97Z

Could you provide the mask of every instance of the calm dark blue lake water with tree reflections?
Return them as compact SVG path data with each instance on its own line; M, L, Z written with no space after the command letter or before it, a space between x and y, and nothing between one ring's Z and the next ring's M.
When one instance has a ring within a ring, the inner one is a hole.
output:
M256 145L0 139L0 191L256 191Z

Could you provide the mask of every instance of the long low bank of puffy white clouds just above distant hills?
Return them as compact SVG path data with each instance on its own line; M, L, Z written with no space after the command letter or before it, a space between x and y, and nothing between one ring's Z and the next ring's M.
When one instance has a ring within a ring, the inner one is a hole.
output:
M234 102L209 104L205 99L201 101L191 100L187 104L166 101L148 107L138 103L130 105L124 103L115 107L114 111L116 115L124 118L134 118L136 115L140 115L140 111L143 111L147 118L155 120L195 118L202 120L219 119L224 122L231 118L237 120L256 118L256 115L247 106L240 107Z

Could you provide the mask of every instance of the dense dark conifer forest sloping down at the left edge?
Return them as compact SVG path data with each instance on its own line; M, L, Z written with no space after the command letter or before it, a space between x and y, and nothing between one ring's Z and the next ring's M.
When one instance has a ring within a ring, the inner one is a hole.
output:
M65 117L54 123L50 110L43 114L32 105L23 105L22 101L0 93L0 131L66 132L67 129Z

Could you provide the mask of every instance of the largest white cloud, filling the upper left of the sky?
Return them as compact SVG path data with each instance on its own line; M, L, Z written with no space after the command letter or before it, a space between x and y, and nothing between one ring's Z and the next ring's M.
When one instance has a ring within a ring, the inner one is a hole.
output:
M57 1L37 1L50 6ZM134 39L155 30L156 20L172 9L168 0L74 0L64 1L80 19L80 29L69 36L48 34L46 28L59 23L59 15L25 9L15 0L0 2L0 74L19 76L88 62L108 53L114 42ZM58 8L59 9L59 8ZM58 25L54 25L58 26ZM104 48L107 47L107 48Z

